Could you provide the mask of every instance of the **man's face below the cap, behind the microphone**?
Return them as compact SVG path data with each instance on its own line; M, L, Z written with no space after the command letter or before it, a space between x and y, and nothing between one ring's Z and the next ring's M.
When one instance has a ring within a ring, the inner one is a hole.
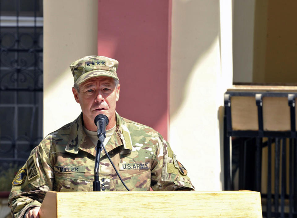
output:
M106 129L115 125L115 106L120 94L120 85L115 87L111 77L98 76L80 84L79 92L72 88L75 101L80 104L83 112L84 127L96 131L94 119L98 114L104 114L109 119Z

